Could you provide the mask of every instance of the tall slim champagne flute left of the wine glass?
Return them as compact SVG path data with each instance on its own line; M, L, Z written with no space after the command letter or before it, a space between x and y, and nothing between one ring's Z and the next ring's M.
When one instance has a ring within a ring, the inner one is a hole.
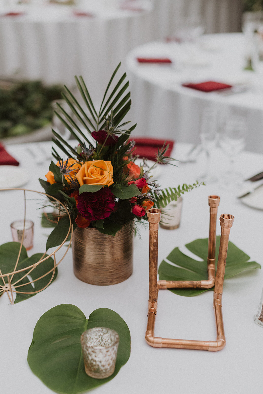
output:
M205 172L201 178L206 183L217 181L217 177L211 172L213 164L211 163L211 151L217 145L217 112L211 108L205 108L200 115L199 123L200 145L206 154Z

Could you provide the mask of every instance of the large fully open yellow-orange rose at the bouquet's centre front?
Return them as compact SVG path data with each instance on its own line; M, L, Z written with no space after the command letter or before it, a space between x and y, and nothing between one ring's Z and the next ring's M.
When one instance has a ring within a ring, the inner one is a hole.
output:
M85 162L78 171L76 178L82 185L108 185L113 182L113 167L111 162L104 160L91 160Z

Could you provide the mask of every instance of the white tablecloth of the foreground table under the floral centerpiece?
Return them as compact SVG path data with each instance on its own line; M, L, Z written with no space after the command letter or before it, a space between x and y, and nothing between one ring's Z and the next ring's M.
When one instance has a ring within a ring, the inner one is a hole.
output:
M50 152L51 143L41 143ZM176 143L172 155L184 155L191 146ZM30 175L28 189L42 191L38 178L44 178L49 160L36 164L27 149L34 144L9 145L9 152L20 161L20 168ZM215 158L221 158L215 151ZM263 169L263 155L243 152L238 165L244 177ZM198 177L198 166L178 164L162 167L159 177L163 187L191 183ZM222 165L222 170L224 169ZM1 171L1 169L0 169ZM1 172L0 172L1 173ZM1 243L11 241L9 225L22 217L23 199L18 191L0 191ZM220 195L219 214L230 213L235 221L230 240L247 253L252 261L262 260L263 211L255 210L235 198L235 194L220 188L219 184L201 186L183 196L183 211L179 229L159 229L158 262L176 246L185 245L196 238L207 238L209 206L207 196ZM44 251L47 229L41 228L39 200L28 199L27 217L35 222L34 247L29 255ZM51 393L30 370L26 358L33 329L47 310L69 303L79 307L85 316L101 307L115 310L128 324L131 333L131 355L117 376L94 392L97 394L158 394L166 392L185 394L247 394L261 392L263 328L256 325L257 311L263 285L262 270L250 271L224 282L223 318L226 346L219 352L156 349L144 340L148 311L148 237L147 228L141 228L141 239L134 240L134 270L126 281L113 286L93 286L74 277L72 252L67 253L58 267L58 275L46 290L15 305L7 295L0 298L1 336L0 365L1 392L4 394ZM217 234L220 234L219 217ZM65 249L64 249L65 250ZM196 297L181 297L168 290L159 293L156 336L214 340L216 338L213 314L213 293ZM209 383L208 383L209 382Z

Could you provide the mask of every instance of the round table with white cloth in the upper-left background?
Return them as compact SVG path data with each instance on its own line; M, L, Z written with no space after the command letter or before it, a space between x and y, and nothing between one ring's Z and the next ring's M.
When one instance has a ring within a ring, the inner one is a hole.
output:
M100 102L118 63L150 40L151 14L150 0L0 6L0 75L67 86L82 75Z

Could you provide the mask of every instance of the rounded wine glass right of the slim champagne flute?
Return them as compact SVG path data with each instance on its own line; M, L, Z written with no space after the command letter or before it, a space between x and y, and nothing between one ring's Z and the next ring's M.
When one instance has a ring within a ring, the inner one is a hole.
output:
M243 116L228 118L222 128L219 145L229 158L229 167L222 182L233 188L241 186L242 174L235 170L235 158L243 151L246 141L246 123Z

